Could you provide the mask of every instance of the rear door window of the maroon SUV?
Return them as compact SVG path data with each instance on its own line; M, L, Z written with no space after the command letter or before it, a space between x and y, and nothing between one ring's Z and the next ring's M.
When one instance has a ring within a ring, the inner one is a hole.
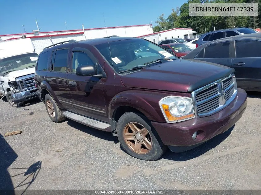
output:
M54 71L67 72L68 49L56 50L54 57Z

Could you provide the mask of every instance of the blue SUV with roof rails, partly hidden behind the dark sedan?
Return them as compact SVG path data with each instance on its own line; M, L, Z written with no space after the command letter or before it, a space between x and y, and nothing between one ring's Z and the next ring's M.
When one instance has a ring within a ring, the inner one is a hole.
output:
M246 35L246 34L252 34L257 33L255 30L251 28L227 28L227 29L221 29L221 30L213 30L210 32L205 33L204 35L201 35L201 37L196 42L196 47L207 43L208 41L214 41L217 39L222 39L225 37L232 37L236 35Z

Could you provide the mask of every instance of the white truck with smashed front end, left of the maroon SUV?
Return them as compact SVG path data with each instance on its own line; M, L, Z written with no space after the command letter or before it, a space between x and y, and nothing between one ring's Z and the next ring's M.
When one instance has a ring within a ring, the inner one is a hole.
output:
M0 42L0 96L11 106L37 97L34 72L38 54L28 38Z

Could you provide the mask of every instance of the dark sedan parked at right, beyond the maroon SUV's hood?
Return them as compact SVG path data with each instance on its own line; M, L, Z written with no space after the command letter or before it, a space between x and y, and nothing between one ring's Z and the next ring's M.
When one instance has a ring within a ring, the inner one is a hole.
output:
M184 56L235 69L238 87L261 91L261 34L238 35L208 42Z

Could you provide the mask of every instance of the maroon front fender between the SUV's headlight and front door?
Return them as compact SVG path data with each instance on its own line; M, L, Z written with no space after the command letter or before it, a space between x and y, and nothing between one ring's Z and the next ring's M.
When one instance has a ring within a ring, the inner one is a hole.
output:
M114 112L120 106L130 106L139 110L149 120L166 122L159 107L159 100L167 95L170 94L138 90L120 92L110 101L108 107L109 117L113 118Z

